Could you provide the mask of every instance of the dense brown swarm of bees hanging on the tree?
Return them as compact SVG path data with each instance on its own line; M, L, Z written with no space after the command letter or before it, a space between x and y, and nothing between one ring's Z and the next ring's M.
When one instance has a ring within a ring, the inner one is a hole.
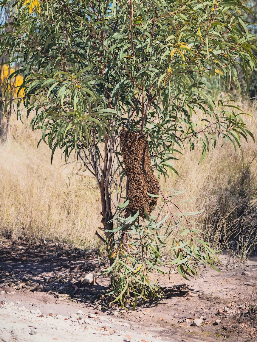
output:
M120 133L121 152L129 179L129 208L132 213L139 210L139 215L146 218L144 210L148 215L157 204L157 197L151 195L159 194L159 182L153 174L149 147L146 136L139 132L122 129Z

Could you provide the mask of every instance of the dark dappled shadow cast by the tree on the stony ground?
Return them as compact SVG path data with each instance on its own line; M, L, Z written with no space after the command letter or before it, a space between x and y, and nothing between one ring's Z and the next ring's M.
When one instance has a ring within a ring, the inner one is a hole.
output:
M100 275L105 262L94 250L74 249L57 243L29 244L25 241L2 240L0 244L0 292L48 292L55 298L64 297L77 302L95 304L110 310L109 277ZM96 276L94 284L83 285L87 273ZM162 297L148 301L138 299L137 307L151 307L163 299L186 296L184 285L161 287Z

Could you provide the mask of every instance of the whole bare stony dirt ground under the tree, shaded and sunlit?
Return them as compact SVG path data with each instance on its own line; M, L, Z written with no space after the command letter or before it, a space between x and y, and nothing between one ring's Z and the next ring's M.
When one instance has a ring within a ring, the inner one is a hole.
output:
M163 298L136 310L109 303L104 260L95 251L58 244L0 242L0 342L257 340L257 258L220 257L222 272L203 267L185 281L159 278ZM94 285L81 283L87 273ZM33 291L36 286L38 291ZM200 320L197 320L200 319ZM196 326L199 325L199 326Z

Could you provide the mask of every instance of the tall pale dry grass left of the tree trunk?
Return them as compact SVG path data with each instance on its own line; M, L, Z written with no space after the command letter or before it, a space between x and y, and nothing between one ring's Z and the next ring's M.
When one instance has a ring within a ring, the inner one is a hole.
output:
M37 135L37 136L35 136ZM56 240L98 247L98 188L92 177L79 177L76 164L61 154L50 162L39 135L14 121L9 140L0 145L0 234L12 239Z

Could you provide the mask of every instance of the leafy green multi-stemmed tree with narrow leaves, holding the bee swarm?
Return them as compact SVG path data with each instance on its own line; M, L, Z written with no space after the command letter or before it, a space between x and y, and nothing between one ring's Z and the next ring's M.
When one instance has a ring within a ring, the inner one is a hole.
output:
M2 9L9 3L2 0ZM201 263L213 266L214 252L180 212L176 192L167 195L152 170L158 178L177 173L172 160L197 141L202 160L220 138L240 148L241 137L252 136L240 108L215 103L203 88L204 76L229 82L238 67L249 80L256 36L242 19L244 3L18 0L12 6L12 29L2 31L0 51L10 51L10 63L19 65L9 79L24 78L17 115L24 105L52 157L58 147L65 160L75 153L96 177L103 225L96 234L107 247L111 293L122 305L161 295L153 271L163 272L168 238L174 257L168 265L184 277L196 275Z

